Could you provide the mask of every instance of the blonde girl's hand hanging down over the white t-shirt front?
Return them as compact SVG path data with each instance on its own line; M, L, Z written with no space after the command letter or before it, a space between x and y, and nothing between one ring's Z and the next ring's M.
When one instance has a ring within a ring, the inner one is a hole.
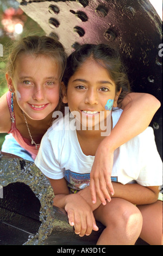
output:
M90 192L93 204L96 203L96 193L103 205L106 204L106 200L110 202L110 194L111 196L114 194L114 188L111 184L113 159L114 151L109 151L108 145L106 147L103 140L96 151L95 161L90 173Z

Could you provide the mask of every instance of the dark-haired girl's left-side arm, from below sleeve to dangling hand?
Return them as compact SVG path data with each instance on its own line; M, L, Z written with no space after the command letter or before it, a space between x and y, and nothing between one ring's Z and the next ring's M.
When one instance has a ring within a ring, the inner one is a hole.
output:
M74 226L75 233L79 236L90 235L92 229L97 231L95 217L89 204L80 194L69 194L66 180L49 179L54 190L53 204L65 209L68 222Z

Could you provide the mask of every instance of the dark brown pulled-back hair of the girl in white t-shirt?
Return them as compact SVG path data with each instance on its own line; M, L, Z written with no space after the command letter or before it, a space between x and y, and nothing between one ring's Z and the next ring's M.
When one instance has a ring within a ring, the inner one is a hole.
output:
M67 65L63 76L65 86L67 87L70 77L88 58L92 58L99 65L102 65L108 70L112 81L114 81L116 85L116 92L120 91L122 88L122 92L118 98L118 103L120 103L130 92L130 84L126 70L121 62L120 54L117 50L105 44L84 44L78 46L76 51L71 53L67 59Z

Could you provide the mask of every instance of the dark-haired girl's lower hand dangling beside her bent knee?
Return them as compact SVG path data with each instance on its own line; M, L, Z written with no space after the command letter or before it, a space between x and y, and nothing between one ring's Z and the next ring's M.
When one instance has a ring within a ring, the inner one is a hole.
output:
M68 215L69 224L74 226L75 233L79 236L90 235L92 230L98 230L89 204L79 194L67 196L65 211Z

